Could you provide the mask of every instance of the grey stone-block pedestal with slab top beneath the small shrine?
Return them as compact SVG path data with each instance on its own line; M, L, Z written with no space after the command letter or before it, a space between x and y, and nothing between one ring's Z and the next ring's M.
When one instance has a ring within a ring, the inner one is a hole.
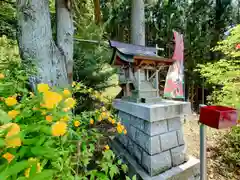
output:
M149 176L188 161L181 117L190 113L190 103L162 100L147 104L117 99L114 107L128 131L118 140Z

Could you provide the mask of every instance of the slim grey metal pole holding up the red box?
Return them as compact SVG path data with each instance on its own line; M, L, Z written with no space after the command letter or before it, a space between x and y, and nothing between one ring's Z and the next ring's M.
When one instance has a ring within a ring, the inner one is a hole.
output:
M206 106L200 104L199 108ZM206 126L200 124L200 180L207 180Z

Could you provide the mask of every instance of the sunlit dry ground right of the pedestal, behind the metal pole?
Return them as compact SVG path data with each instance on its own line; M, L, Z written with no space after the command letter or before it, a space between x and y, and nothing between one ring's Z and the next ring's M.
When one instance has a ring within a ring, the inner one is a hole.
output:
M188 116L183 125L188 154L197 158L200 155L198 118L198 115ZM207 171L209 180L240 179L239 175L228 170L230 165L223 163L221 157L216 152L217 139L221 138L227 132L228 130L207 128Z

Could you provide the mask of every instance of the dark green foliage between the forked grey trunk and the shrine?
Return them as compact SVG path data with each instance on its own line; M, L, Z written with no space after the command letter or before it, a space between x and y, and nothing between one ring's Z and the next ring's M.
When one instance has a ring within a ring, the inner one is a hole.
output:
M76 42L74 44L74 80L97 91L116 85L112 81L115 70L109 66L112 51L103 42L104 29L94 23L93 3L75 6ZM79 18L80 17L80 18ZM95 100L84 93L76 94L79 99L77 112L93 110Z

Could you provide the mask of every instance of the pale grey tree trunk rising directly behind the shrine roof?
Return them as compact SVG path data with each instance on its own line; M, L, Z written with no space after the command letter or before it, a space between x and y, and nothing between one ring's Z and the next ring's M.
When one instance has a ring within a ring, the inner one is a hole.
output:
M132 0L131 43L145 45L144 0Z

